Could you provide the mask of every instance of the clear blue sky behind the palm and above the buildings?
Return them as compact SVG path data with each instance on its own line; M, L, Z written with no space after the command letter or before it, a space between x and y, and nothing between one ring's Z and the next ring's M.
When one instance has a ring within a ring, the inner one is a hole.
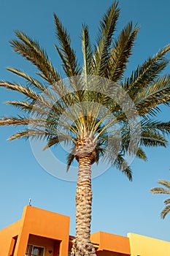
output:
M111 3L110 0L1 1L0 79L18 81L17 77L6 71L5 68L9 66L34 75L33 67L13 53L9 46L16 29L38 39L55 67L59 67L61 61L53 47L56 42L53 12L70 31L72 45L81 59L82 23L88 23L94 39L98 20ZM131 72L148 56L170 43L170 2L128 0L120 1L120 7L118 29L123 28L129 20L141 27L129 64ZM170 72L170 67L166 72ZM16 113L16 110L3 104L9 99L20 99L20 95L0 89L0 116ZM169 120L169 108L163 108L160 118ZM28 141L7 142L15 130L0 127L0 229L20 219L23 207L31 197L33 206L70 216L70 234L74 235L76 183L54 178L43 170L36 162ZM109 169L93 179L92 232L102 230L121 236L133 232L170 241L170 214L164 220L160 217L166 196L150 194L150 188L157 186L158 179L170 180L169 148L147 149L147 157L147 162L135 159L132 163L133 182L115 169Z

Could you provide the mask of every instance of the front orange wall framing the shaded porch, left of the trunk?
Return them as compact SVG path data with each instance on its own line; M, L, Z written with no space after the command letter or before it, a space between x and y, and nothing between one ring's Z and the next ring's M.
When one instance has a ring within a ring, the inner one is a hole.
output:
M20 236L18 236L19 241L14 256L22 256L23 252L26 252L29 234L60 240L60 253L62 256L67 256L69 245L69 217L33 206L26 206L23 211L22 219L23 228Z

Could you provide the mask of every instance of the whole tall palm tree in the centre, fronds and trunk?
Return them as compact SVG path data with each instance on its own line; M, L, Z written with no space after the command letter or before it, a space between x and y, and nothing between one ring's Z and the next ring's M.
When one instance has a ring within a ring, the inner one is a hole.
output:
M36 78L32 78L20 69L8 67L9 72L23 78L23 84L0 82L1 87L26 97L6 102L21 113L0 119L1 126L22 128L9 140L47 140L45 148L60 142L69 143L68 170L74 159L79 163L72 255L96 255L90 243L91 165L104 159L131 180L127 156L147 160L144 147L166 147L166 135L170 132L170 121L157 120L159 106L169 105L170 75L161 75L161 72L169 64L165 55L170 45L125 78L139 27L130 22L116 35L119 15L120 8L115 1L101 18L93 46L88 26L82 26L82 65L71 46L68 31L54 15L58 39L55 49L67 80L61 79L39 42L16 31L17 39L10 42L13 50L31 61L38 72Z

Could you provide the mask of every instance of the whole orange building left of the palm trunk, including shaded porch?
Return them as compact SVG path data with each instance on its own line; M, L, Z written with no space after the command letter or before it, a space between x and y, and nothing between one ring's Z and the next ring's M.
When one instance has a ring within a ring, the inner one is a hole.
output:
M32 206L24 208L18 222L0 230L1 256L67 256L68 244L69 217Z

